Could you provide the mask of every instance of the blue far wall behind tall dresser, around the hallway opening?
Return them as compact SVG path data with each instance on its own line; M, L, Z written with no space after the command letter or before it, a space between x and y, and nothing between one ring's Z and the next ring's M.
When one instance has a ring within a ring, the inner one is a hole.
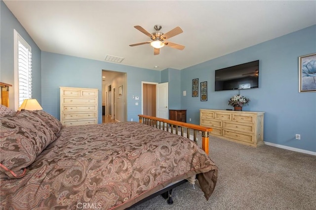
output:
M60 118L59 87L96 88L101 96L102 70L127 73L127 119L137 120L142 106L136 106L132 96L139 96L141 100L141 82L160 83L160 71L48 52L41 53L43 109ZM102 123L102 97L99 97L98 107L99 123Z

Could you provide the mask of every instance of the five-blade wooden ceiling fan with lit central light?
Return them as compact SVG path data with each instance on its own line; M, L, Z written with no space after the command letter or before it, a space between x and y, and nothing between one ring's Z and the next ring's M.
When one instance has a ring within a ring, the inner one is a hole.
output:
M140 32L144 33L145 35L149 36L152 41L147 41L147 42L141 42L137 44L130 44L129 46L134 47L137 45L142 45L142 44L150 44L152 47L154 47L154 55L159 55L160 53L160 48L163 46L168 46L172 47L178 50L183 50L185 46L176 44L173 42L166 41L166 39L171 38L175 35L178 35L183 32L183 30L180 27L176 27L173 30L170 30L169 32L162 33L159 30L161 29L160 25L155 25L154 29L156 30L153 33L148 32L141 26L134 26L135 29L139 30Z

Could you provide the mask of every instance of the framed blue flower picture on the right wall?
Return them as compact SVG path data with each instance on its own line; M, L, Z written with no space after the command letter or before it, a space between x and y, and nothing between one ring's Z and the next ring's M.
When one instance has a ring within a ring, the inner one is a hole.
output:
M298 59L299 92L316 92L316 53Z

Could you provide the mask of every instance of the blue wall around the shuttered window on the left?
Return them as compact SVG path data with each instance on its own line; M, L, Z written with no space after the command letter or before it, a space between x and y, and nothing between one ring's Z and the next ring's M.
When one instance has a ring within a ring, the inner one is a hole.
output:
M9 107L14 109L14 29L32 48L33 98L41 104L40 48L2 0L0 1L0 27L0 81L13 85L9 91Z

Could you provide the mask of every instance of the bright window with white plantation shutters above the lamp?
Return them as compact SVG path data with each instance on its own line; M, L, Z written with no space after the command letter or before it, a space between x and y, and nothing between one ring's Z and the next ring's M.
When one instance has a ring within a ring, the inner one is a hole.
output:
M32 98L32 48L14 30L14 98L17 110L24 99Z

